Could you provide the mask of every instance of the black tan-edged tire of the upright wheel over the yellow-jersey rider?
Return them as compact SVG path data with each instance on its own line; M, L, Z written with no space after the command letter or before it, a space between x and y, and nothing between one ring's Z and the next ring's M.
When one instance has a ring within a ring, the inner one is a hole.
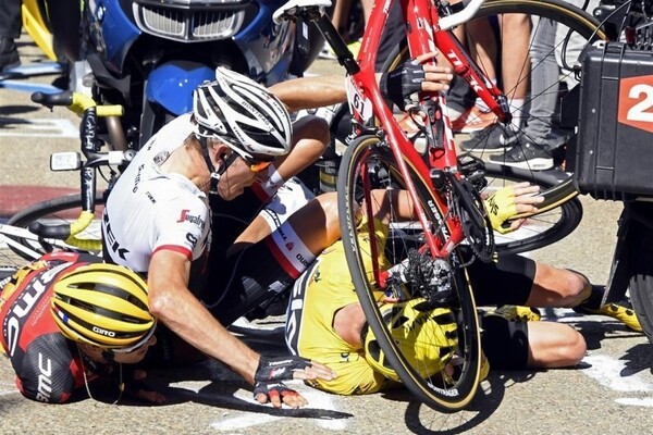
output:
M377 157L383 159L390 164L390 167L396 167L396 160L392 152L387 148L377 147L379 138L375 136L361 136L354 140L345 150L340 166L340 173L337 178L337 191L338 191L338 214L341 215L341 231L343 234L343 245L345 247L345 256L347 258L347 264L352 274L356 293L359 301L366 314L369 327L373 331L381 349L385 353L385 358L390 361L391 365L403 381L404 385L423 403L438 409L442 412L454 412L464 409L470 400L473 398L479 384L480 375L480 335L478 318L476 312L476 303L473 300L473 294L469 284L469 278L464 269L455 270L453 278L455 281L455 291L459 296L457 301L459 302L460 310L457 311L459 319L463 319L461 323L464 326L459 330L459 336L463 338L459 340L460 346L465 346L461 358L465 364L461 364L464 370L460 371L460 377L455 388L447 389L446 391L441 388L436 388L434 383L430 382L429 378L424 378L406 361L402 350L397 347L392 338L392 333L387 330L381 312L377 306L377 300L373 295L374 286L366 278L366 271L360 259L360 248L358 247L358 237L356 234L355 214L357 206L356 194L352 189L352 186L356 186L356 173L360 159L365 159L364 153L368 149L374 150ZM394 165L393 166L393 162ZM418 174L411 171L411 179L416 185L418 195L422 198L422 201L427 201L424 198L429 198L428 202L432 204L434 201L430 197L432 191L429 184L426 184ZM398 174L398 170L390 171L390 173ZM427 195L429 195L427 197ZM422 202L422 203L424 203ZM432 213L435 211L428 210L428 207L423 207L424 213L429 216L431 222L440 222L442 220L442 213L440 210L436 212L440 214L438 219L433 217ZM453 253L453 256L457 252ZM463 331L463 332L461 332Z

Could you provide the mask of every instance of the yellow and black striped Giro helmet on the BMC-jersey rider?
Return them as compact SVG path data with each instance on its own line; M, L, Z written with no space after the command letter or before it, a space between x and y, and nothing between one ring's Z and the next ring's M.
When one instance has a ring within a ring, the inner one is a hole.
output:
M147 284L133 271L95 263L75 269L54 284L51 311L64 336L120 350L147 341L156 327Z

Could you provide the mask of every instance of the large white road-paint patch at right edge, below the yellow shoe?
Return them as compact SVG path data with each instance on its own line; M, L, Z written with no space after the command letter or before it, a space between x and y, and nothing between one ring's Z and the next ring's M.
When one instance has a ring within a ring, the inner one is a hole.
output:
M650 376L644 376L643 373L628 373L624 361L605 355L589 355L583 358L583 362L592 366L581 369L580 372L613 391L653 391L653 384L646 381Z

